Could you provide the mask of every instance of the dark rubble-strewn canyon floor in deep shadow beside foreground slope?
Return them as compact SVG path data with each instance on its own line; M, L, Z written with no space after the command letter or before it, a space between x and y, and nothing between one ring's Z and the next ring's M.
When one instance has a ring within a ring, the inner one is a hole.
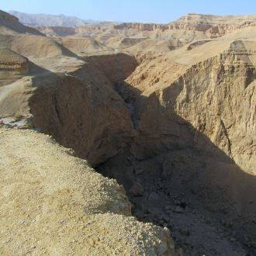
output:
M173 156L172 171L182 171L178 175L164 173L163 156L144 161L123 156L99 165L96 170L116 178L126 188L138 220L168 227L176 247L182 248L184 255L253 255L253 250L240 240L241 234L245 236L243 230L233 229L234 223L227 213L206 208L198 195L199 189L206 188L195 184L193 189L189 185L191 181L186 177L189 170L185 168L195 163L196 168L204 168L196 154L190 154L187 160L190 163L182 163L184 168L180 161L189 153L177 150L168 154Z

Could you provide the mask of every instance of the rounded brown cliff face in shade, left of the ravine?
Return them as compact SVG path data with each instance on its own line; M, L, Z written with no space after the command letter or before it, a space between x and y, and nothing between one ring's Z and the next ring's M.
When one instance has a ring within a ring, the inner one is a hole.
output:
M130 114L109 80L67 77L41 84L29 100L33 124L93 166L117 154L132 137ZM86 76L86 73L85 73Z

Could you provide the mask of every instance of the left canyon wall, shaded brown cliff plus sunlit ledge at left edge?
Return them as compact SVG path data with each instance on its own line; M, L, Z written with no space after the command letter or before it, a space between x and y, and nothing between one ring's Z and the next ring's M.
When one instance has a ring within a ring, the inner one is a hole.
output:
M130 112L113 85L129 76L137 62L126 54L85 61L68 75L47 73L3 87L0 112L32 114L40 131L95 165L116 155L133 137Z

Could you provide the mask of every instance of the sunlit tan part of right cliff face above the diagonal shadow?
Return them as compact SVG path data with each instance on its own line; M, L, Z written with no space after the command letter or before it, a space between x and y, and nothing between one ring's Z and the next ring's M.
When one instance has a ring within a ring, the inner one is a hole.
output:
M241 168L251 172L255 165L255 109L251 107L255 86L251 55L254 47L253 42L234 41L222 54L193 64L189 69L159 57L150 62L151 66L146 64L151 67L150 74L142 64L127 81L146 95L156 94L164 108L189 121L237 160ZM176 71L175 76L171 71ZM242 154L244 161L241 161Z

